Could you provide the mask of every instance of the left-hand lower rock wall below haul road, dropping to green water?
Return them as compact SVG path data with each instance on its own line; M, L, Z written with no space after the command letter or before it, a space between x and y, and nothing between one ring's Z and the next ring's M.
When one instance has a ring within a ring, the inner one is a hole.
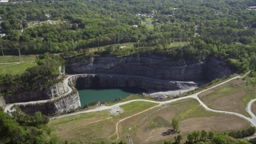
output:
M44 115L55 113L68 113L72 109L77 109L81 107L81 103L79 100L78 93L76 93L74 95L61 98L54 103L46 103L42 105L35 104L27 106L20 105L19 107L26 114L33 116L36 113L36 111L41 111L41 113Z

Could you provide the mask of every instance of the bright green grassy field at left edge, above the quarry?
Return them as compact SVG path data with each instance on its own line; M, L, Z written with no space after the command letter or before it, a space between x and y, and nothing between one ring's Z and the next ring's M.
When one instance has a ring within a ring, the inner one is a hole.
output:
M36 66L36 55L22 55L23 61L19 61L19 56L5 55L0 57L0 74L21 74L28 67ZM13 63L18 62L18 63ZM9 64L4 64L9 63Z

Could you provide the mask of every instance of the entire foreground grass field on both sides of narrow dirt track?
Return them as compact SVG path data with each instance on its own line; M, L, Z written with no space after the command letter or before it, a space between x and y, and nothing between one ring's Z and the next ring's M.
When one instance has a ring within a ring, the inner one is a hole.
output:
M115 124L119 120L156 105L151 102L135 101L120 106L124 109L124 113L117 116L103 110L53 119L49 126L54 130L53 134L64 140L111 143L116 139L116 135L110 136L115 132ZM127 142L127 137L122 137L122 134L130 132L134 143L163 143L164 139L174 141L174 136L179 134L186 140L186 135L195 130L204 129L221 133L250 127L247 121L237 116L206 111L194 99L175 101L166 108L159 109L161 107L163 105L120 122L118 125L120 139ZM179 119L180 133L172 133L173 117Z

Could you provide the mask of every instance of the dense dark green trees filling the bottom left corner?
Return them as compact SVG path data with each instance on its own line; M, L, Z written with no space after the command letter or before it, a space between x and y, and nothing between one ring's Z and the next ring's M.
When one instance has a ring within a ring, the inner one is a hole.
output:
M51 135L51 128L46 124L49 117L36 112L29 116L16 110L11 115L0 107L1 143L57 143L58 137Z

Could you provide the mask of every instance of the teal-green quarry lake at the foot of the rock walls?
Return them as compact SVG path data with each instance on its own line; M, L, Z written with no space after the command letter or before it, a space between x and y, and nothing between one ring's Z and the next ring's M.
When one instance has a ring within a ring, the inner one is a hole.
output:
M78 90L81 106L92 101L111 101L115 98L126 98L132 94L142 94L146 89L138 87L90 87L88 89Z

